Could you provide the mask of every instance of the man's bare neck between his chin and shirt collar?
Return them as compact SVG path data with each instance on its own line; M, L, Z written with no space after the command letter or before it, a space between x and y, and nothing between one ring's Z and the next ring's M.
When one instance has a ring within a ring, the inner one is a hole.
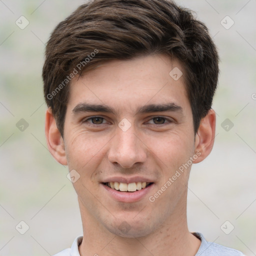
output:
M115 235L102 227L79 201L83 225L83 239L79 246L81 256L194 256L200 240L187 228L186 209L183 214L172 214L152 233L135 238Z

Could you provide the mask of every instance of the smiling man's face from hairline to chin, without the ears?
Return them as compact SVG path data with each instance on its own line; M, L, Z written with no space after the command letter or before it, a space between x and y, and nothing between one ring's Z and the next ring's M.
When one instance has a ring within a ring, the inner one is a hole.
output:
M114 60L70 85L67 164L80 175L73 185L82 218L104 231L140 237L185 221L195 148L183 76L169 75L176 67L183 71L165 55Z

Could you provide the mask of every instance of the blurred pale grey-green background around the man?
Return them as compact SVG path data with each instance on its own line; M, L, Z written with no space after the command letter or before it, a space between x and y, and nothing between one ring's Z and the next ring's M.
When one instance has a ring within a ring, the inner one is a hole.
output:
M45 142L41 69L50 32L84 2L0 0L0 255L52 255L82 234L68 169ZM256 1L177 3L205 22L221 59L215 144L192 166L189 229L256 255Z

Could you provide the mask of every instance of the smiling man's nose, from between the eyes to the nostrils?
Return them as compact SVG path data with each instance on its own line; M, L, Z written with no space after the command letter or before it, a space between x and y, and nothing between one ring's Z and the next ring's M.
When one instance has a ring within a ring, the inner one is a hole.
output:
M108 160L123 168L130 168L146 160L146 146L135 134L132 126L127 131L117 127L116 135L111 140Z

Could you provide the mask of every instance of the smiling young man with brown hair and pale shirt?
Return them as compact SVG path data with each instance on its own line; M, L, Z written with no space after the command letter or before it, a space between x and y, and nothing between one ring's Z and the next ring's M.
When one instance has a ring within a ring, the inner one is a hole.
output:
M168 0L94 0L60 22L43 67L48 148L68 165L83 236L56 255L242 255L190 233L192 163L211 151L218 55Z

